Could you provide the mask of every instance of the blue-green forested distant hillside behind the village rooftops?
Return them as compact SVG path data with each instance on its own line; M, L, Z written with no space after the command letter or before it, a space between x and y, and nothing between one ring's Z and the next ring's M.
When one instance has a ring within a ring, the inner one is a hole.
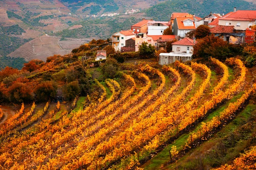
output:
M189 12L204 17L210 12L224 13L237 10L256 10L256 4L244 0L172 0L145 10L154 20L168 21L172 12Z

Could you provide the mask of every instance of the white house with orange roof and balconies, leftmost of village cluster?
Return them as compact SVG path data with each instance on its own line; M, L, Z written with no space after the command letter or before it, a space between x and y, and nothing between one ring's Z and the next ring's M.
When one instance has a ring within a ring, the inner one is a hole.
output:
M132 30L116 32L112 35L112 46L120 51L121 47L125 46L125 40L130 38L135 38Z

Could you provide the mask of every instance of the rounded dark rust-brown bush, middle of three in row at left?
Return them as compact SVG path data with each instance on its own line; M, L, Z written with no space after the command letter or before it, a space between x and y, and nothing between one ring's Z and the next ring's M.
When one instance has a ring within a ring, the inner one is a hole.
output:
M58 86L54 81L44 81L35 87L34 93L38 100L48 101L49 99L55 97L57 94L57 89Z

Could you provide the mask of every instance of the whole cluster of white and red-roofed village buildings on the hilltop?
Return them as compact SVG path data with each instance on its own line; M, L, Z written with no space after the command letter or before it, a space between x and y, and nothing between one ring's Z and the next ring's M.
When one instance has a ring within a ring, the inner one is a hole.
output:
M169 64L175 60L191 60L195 38L186 37L188 32L200 25L210 27L210 34L223 38L233 44L252 43L256 40L256 31L250 26L256 25L256 11L236 10L228 14L212 14L197 17L195 14L177 13L171 15L169 22L142 19L131 26L130 30L121 30L112 35L112 46L120 52L138 51L143 42L147 42L156 50L165 47L166 42L172 43L171 53L161 53L159 63ZM173 35L163 35L169 28Z

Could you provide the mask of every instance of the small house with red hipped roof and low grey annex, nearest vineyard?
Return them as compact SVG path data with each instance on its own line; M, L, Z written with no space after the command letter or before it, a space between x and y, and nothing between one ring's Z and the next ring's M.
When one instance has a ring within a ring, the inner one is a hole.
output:
M187 37L172 43L172 52L160 53L158 63L160 65L168 65L177 60L183 62L191 61L193 55L193 46L195 43L195 38L192 40Z

